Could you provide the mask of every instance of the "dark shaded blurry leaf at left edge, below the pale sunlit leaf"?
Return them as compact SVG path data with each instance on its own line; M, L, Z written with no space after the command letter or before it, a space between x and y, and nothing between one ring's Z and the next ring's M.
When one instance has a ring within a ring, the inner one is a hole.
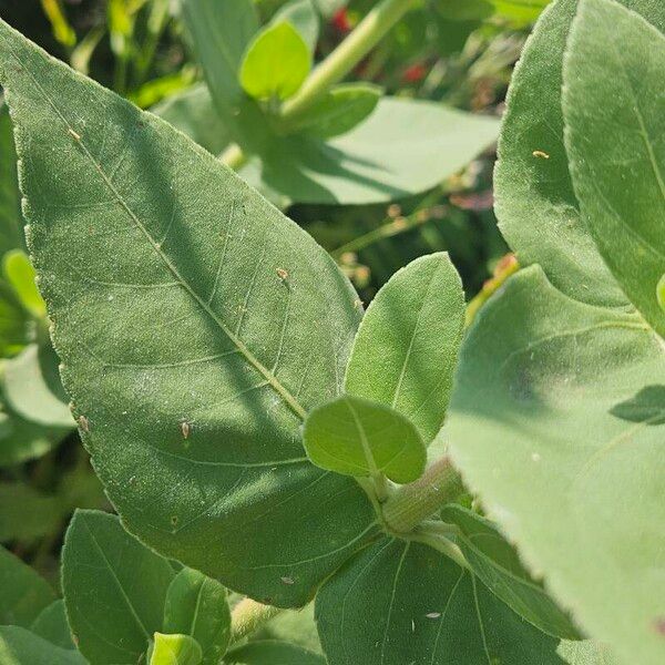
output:
M44 494L23 482L2 482L0 542L30 542L58 532L64 512L65 508L58 497Z

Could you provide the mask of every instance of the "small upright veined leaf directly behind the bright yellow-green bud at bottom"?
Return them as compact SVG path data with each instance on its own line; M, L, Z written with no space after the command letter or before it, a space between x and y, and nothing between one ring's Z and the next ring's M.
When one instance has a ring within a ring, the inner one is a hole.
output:
M162 628L191 635L201 647L202 663L218 665L231 637L226 590L198 571L183 569L168 586Z

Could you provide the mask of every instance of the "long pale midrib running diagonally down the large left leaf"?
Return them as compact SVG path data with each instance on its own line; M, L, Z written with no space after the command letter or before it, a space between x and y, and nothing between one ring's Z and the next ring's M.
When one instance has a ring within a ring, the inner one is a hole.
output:
M21 66L24 66L24 64L21 62L20 58L17 55L16 51L11 48L11 45L9 45L9 50L11 51L11 54L14 58L14 60L17 60L17 62L19 62L21 64ZM35 79L35 76L32 74L32 72L28 68L24 68L24 71L28 72L28 74L34 82L35 88L42 94L44 100L50 104L50 106L53 109L53 111L55 111L57 115L63 122L66 130L68 131L71 130L72 132L74 132L74 134L76 134L73 126L66 120L64 114L60 111L60 109L58 108L55 102L51 99L51 96L42 88L42 85L39 83L39 81ZM252 365L266 379L266 381L279 395L279 397L283 398L283 400L291 409L291 411L294 411L294 413L300 420L304 420L307 413L306 413L305 409L303 408L303 406L298 402L298 400L277 380L275 375L273 375L273 372L270 372L267 369L267 367L265 367L258 360L258 358L256 358L256 356L254 356L254 354L248 349L248 347L234 332L232 332L232 330L229 330L227 328L226 324L216 315L216 313L212 309L212 307L209 305L207 305L207 303L194 290L194 288L190 285L190 283L181 275L181 273L176 268L176 266L171 262L168 256L166 256L166 254L162 250L158 243L152 237L152 235L150 234L150 232L147 231L145 225L141 222L139 216L129 206L129 204L126 203L124 197L120 194L120 192L113 185L113 183L111 182L111 180L109 178L109 176L106 175L104 170L102 168L101 164L94 158L94 156L92 155L92 153L90 152L90 150L88 149L85 143L83 143L83 140L78 139L78 140L75 140L75 142L78 145L81 146L85 156L93 164L94 168L96 170L96 172L99 173L99 175L101 176L102 181L104 182L106 187L110 190L112 195L115 197L116 202L127 213L131 221L135 224L135 226L145 236L146 241L152 246L155 254L162 259L162 262L164 263L166 268L177 279L177 282L181 284L181 286L190 294L190 296L201 307L201 309L203 309L203 311L205 311L213 319L213 321L219 327L219 329L228 337L228 339L235 345L235 347L238 349L238 351L241 354L243 354L243 356L245 357L247 362L249 362L249 365ZM223 168L223 166L221 166L221 167Z

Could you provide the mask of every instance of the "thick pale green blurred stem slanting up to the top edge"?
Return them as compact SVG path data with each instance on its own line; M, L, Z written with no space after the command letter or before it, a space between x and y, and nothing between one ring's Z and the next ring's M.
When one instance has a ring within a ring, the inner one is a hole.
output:
M287 100L282 116L306 111L331 85L339 83L377 45L411 8L413 0L381 0L354 31L309 75L303 88Z

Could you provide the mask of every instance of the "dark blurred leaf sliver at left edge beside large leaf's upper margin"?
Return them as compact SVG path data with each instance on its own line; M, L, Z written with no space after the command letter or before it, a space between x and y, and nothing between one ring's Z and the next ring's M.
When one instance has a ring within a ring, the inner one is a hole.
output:
M23 246L21 193L17 175L11 120L7 104L0 98L0 256Z

